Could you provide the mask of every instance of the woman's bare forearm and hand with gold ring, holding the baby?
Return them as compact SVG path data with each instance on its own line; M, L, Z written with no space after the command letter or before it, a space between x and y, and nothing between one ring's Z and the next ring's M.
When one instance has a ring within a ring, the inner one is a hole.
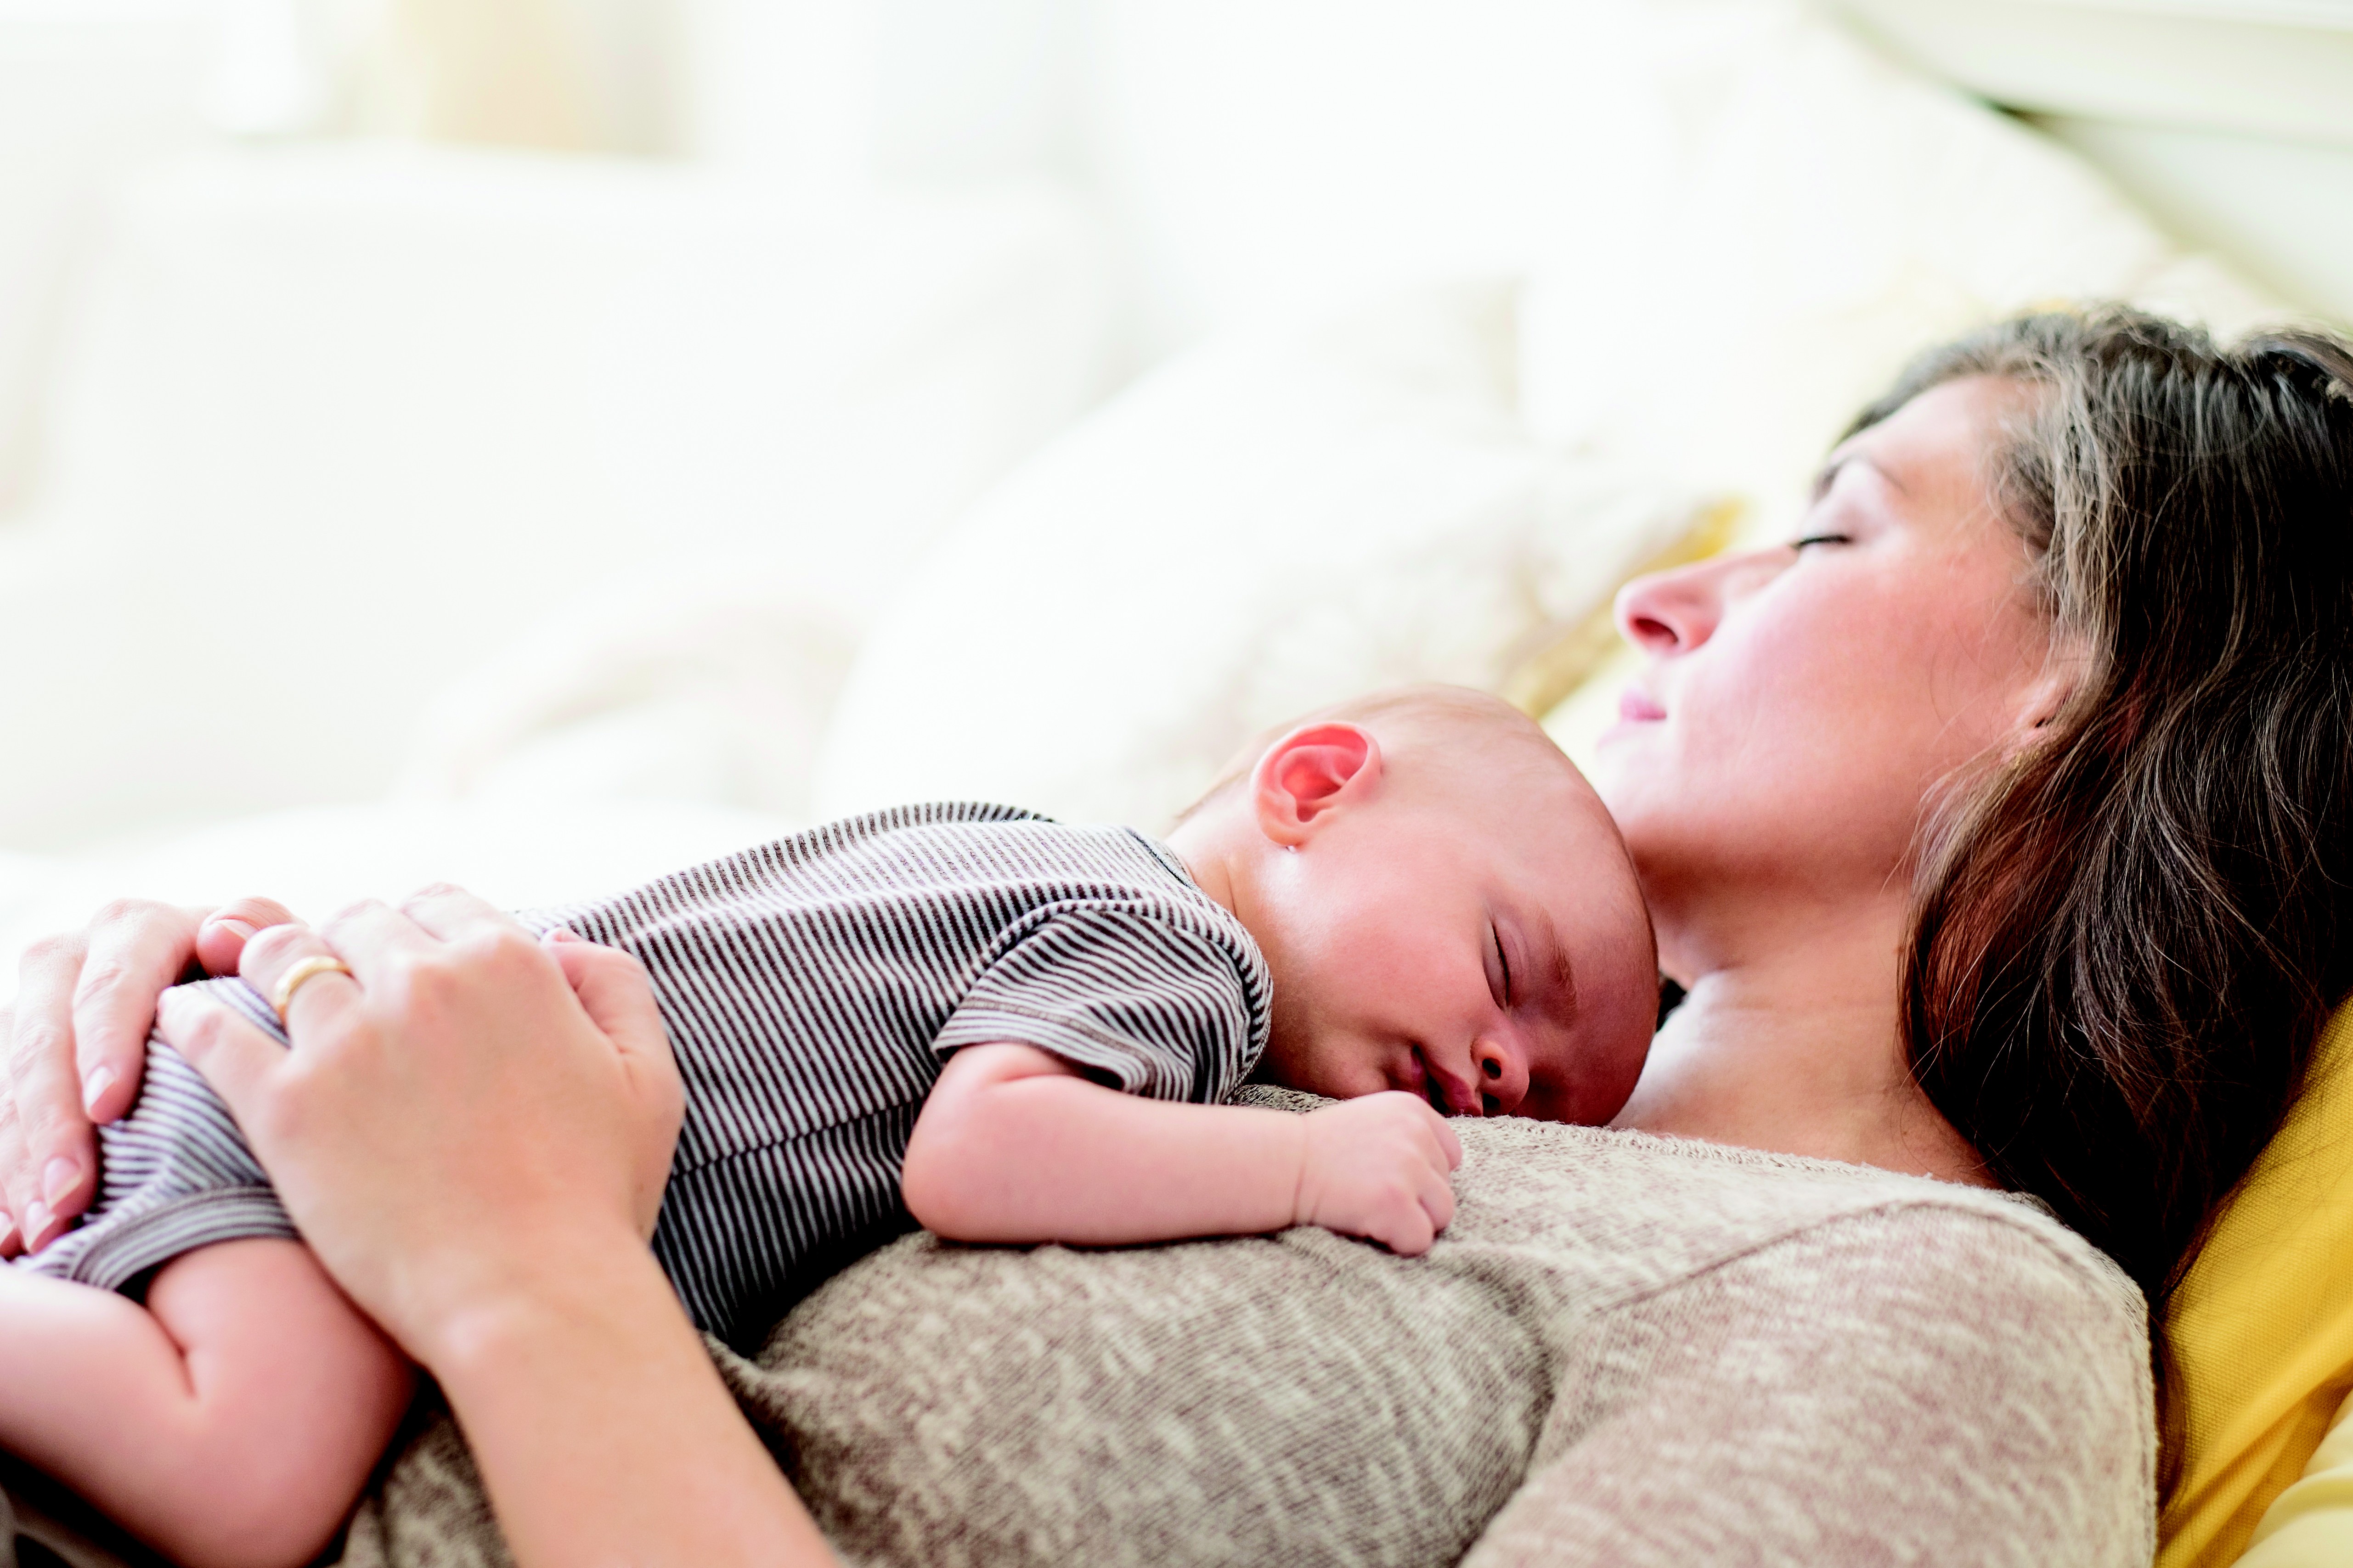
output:
M186 992L212 1079L346 1293L440 1380L518 1563L828 1563L645 1246L680 1084L638 964L454 889L264 933L282 1051Z

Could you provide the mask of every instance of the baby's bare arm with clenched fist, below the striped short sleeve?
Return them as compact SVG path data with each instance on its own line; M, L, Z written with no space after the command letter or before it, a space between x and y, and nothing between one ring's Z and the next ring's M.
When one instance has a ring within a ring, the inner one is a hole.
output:
M1306 1117L1104 1088L1035 1046L948 1058L901 1190L958 1241L1174 1241L1322 1225L1426 1253L1454 1218L1461 1145L1409 1093Z

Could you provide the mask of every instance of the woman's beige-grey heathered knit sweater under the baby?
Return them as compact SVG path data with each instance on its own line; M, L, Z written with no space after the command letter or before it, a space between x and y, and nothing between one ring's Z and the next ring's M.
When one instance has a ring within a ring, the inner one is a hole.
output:
M713 1356L849 1563L2151 1561L2144 1302L2031 1204L1457 1126L1426 1258L913 1234L758 1359ZM445 1415L412 1420L344 1561L506 1563Z

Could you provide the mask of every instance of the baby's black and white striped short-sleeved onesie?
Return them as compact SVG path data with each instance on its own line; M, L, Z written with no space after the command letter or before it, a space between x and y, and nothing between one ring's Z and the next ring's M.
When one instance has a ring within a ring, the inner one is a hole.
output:
M729 1340L911 1225L899 1166L946 1053L1033 1044L1127 1093L1214 1103L1266 1046L1249 933L1160 844L1009 806L901 806L539 910L633 952L687 1084L654 1253ZM278 1032L242 980L212 994ZM226 1107L160 1039L104 1128L92 1220L26 1260L104 1288L292 1237Z

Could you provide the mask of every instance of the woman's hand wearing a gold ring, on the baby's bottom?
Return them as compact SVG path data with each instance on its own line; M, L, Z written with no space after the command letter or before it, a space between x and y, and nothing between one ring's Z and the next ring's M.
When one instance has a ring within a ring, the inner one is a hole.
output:
M294 992L292 1051L184 992L165 997L162 1032L412 1356L431 1363L468 1314L532 1298L614 1232L645 1244L685 1100L635 959L534 940L449 886L266 931L242 973L268 997L311 957L353 973Z

